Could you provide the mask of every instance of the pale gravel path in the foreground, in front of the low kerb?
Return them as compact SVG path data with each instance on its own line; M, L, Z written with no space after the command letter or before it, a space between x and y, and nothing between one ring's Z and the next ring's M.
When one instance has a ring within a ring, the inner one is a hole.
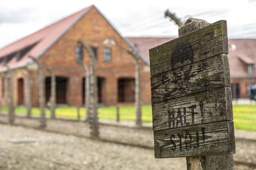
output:
M154 151L151 149L24 127L0 125L0 128L1 170L186 170L184 158L154 159ZM7 142L8 139L24 136L35 138L38 142Z

